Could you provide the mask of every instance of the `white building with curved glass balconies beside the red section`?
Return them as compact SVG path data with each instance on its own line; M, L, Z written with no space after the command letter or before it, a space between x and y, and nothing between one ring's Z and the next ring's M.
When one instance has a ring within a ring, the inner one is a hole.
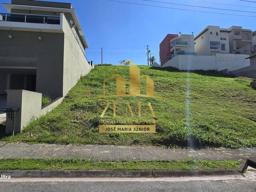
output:
M176 55L196 55L194 51L194 35L182 34L170 40L171 50L170 59Z

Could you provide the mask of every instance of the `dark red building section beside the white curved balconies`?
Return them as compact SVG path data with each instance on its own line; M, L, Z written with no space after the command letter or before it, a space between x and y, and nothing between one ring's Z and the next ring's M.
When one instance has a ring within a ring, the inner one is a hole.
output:
M161 66L163 64L165 64L168 60L170 60L169 55L173 54L173 52L171 53L171 43L170 40L178 37L177 34L167 34L166 37L164 38L164 40L162 40L162 42L160 43L160 63Z

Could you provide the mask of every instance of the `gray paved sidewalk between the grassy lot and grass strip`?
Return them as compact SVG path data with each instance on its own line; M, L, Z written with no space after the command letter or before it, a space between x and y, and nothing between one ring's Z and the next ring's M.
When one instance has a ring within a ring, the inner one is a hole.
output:
M161 149L124 146L64 146L25 143L0 145L0 158L90 158L96 160L242 160L256 158L256 148Z

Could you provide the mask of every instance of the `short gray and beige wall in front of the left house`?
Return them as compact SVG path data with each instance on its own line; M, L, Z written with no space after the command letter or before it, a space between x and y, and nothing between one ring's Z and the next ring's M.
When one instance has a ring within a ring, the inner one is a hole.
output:
M14 132L20 132L32 118L40 116L42 94L26 90L8 90L7 108L19 108L15 114ZM12 133L13 120L6 116L6 133Z

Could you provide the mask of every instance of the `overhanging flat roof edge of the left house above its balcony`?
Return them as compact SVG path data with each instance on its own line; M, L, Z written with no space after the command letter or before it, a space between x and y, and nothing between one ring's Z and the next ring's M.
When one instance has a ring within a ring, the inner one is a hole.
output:
M86 41L86 38L84 36L84 33L82 31L82 27L80 25L80 22L78 20L78 17L76 15L76 12L73 8L56 8L56 7L43 7L43 6L29 6L29 5L18 5L18 4L2 4L6 10L11 12L11 9L28 9L28 10L37 10L37 11L52 11L52 12L64 12L64 13L70 13L76 22L76 27L78 29L78 32L82 38L82 42L84 43L85 48L88 48L88 44Z

